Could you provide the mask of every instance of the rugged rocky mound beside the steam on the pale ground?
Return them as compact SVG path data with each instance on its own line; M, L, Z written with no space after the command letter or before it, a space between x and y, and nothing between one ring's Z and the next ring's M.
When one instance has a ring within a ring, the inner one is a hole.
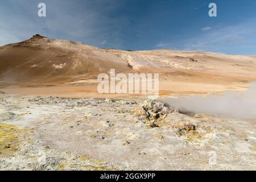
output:
M134 114L143 122L148 123L148 127L170 127L179 136L201 138L212 129L209 123L182 114L179 109L155 100L143 101L134 110Z

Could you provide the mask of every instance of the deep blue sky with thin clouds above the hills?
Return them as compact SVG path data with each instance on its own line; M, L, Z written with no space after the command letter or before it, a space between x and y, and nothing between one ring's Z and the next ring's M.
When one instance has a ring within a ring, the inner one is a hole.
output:
M47 16L38 17L38 3ZM208 5L217 4L210 18ZM118 49L256 55L255 0L1 0L0 45L34 34Z

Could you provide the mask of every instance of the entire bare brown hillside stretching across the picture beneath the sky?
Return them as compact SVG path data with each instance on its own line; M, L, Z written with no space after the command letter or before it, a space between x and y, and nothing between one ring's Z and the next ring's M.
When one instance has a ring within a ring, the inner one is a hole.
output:
M241 90L248 82L256 80L256 56L201 51L121 51L41 35L0 47L2 88L6 85L75 84L83 87L72 88L72 93L97 93L98 74L108 74L112 68L116 73L159 73L162 94ZM63 89L59 89L58 94ZM71 88L66 90L69 92ZM40 91L38 89L35 93Z

